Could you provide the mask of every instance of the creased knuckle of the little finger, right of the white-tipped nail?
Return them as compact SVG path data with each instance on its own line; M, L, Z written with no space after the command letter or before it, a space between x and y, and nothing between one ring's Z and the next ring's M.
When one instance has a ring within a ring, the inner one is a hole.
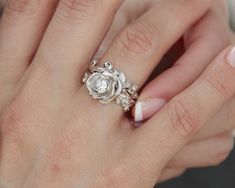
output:
M168 118L173 130L183 137L195 134L200 128L197 114L192 113L192 110L177 100L169 103Z

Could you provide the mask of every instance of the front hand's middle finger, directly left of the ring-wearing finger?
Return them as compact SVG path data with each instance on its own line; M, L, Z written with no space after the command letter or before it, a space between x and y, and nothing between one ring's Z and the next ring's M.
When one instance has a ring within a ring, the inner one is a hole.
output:
M47 70L66 96L77 90L81 75L102 42L123 0L61 0L34 59L32 72ZM48 83L51 87L51 82Z

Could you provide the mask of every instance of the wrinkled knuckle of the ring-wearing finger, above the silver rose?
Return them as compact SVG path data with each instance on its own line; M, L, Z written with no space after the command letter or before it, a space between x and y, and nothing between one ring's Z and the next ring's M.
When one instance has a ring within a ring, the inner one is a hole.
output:
M127 51L146 53L153 49L155 35L152 26L146 23L135 23L126 27L118 38Z

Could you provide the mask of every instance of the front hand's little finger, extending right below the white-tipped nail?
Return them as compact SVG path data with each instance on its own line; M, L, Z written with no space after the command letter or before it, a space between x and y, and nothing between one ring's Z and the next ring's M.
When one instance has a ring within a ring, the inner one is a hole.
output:
M146 159L142 168L159 175L175 153L234 95L234 82L235 49L229 47L194 84L135 131L132 151L138 154L132 152L132 157L138 155L136 162L140 163Z

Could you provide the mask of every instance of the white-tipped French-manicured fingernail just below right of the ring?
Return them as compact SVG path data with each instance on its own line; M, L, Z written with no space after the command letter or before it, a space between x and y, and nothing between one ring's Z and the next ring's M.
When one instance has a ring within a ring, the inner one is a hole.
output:
M165 104L165 99L146 99L139 101L135 105L135 121L146 120L157 113Z

